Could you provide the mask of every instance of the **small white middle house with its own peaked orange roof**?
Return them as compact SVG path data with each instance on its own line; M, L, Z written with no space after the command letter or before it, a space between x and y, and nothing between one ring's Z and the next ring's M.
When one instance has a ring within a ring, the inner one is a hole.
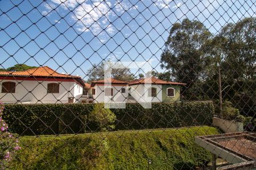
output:
M127 82L113 78L93 81L90 85L94 103L126 102Z

